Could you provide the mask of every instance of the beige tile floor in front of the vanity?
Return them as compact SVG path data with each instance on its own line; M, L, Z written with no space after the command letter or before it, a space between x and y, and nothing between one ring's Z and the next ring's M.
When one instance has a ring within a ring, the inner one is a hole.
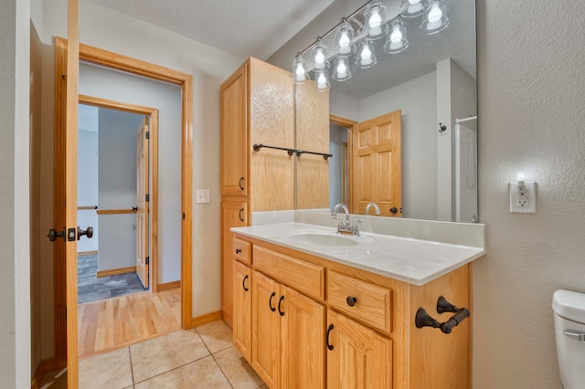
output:
M67 387L67 373L46 375L42 389ZM80 388L267 388L214 321L80 360Z

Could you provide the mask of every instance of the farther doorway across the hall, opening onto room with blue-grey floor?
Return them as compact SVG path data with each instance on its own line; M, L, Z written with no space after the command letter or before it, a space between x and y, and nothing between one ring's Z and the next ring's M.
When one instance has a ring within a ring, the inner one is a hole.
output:
M78 242L78 303L156 290L158 110L81 95L79 112L78 224L93 237Z

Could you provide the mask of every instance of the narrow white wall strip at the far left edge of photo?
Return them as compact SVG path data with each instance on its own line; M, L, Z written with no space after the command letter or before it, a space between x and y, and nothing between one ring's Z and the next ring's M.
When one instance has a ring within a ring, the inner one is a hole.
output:
M30 3L0 3L0 377L30 387Z

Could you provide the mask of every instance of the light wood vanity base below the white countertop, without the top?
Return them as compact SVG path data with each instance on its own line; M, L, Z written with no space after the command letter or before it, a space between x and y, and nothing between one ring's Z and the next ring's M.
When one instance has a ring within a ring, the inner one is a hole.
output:
M234 331L251 329L251 356L245 356L272 389L471 388L472 319L450 334L414 322L419 308L438 321L452 316L437 313L439 296L471 310L471 264L415 286L236 237L235 245L250 244L251 256L237 258L242 270L234 285L248 274L239 261L250 259L252 288L251 323L239 321L238 308Z

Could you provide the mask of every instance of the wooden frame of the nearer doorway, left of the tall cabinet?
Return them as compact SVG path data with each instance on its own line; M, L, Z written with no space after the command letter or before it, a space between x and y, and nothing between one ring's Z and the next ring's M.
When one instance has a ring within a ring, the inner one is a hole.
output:
M62 128L65 128L63 111L67 107L66 90L61 88L58 79L65 79L73 70L73 66L67 71L67 63L63 60L64 51L67 51L67 39L55 38L55 133L59 136ZM73 41L75 42L75 41ZM60 48L60 49L59 49ZM65 48L65 50L62 50ZM74 48L72 48L74 49ZM139 59L126 57L111 51L103 50L88 45L79 45L79 60L100 65L104 68L113 68L124 72L142 76L147 79L168 82L181 87L181 327L189 329L192 327L192 258L193 258L193 236L192 236L192 184L193 184L193 76L170 68L154 65ZM75 68L79 69L79 62ZM76 91L77 93L77 91ZM78 100L75 100L78 104ZM76 110L77 111L77 110ZM75 121L77 123L77 121ZM77 125L75 126L77 130ZM55 150L56 161L64 156L58 149ZM55 175L55 187L58 187L58 180L63 179L59 174ZM55 196L57 200L58 196ZM54 206L62 209L62 205L54 201ZM54 290L55 290L55 362L57 367L67 365L68 361L68 327L71 340L74 344L69 345L69 359L77 357L77 298L76 304L67 304L66 284L68 283L68 268L66 261L60 260L62 252L55 252L54 258ZM69 269L73 271L72 267ZM75 270L77 271L77 270ZM71 283L70 287L77 290L77 283ZM70 293L69 293L70 294ZM63 309L68 307L69 312ZM69 319L69 321L67 320ZM77 363L77 361L75 362Z

